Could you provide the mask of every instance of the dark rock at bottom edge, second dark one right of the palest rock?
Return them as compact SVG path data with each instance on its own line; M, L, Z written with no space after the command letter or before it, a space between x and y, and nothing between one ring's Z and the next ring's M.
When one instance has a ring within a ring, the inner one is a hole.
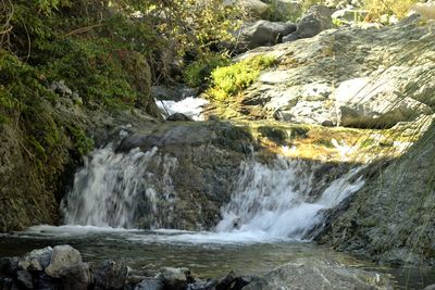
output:
M123 289L128 267L114 261L102 261L91 267L96 287L99 289Z

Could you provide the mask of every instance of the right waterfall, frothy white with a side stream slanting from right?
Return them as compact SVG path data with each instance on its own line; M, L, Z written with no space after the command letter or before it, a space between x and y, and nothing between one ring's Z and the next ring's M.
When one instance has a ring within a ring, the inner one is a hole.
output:
M277 157L271 165L245 162L232 201L222 209L221 232L257 231L269 238L302 239L364 181L355 168L332 181L319 197L310 194L315 168L303 161ZM327 173L324 173L327 174Z

